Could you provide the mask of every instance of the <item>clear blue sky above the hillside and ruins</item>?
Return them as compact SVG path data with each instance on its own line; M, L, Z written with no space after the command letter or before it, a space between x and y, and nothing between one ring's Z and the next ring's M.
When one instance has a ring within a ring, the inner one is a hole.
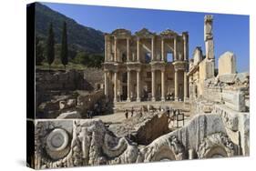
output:
M167 28L179 34L188 31L189 58L196 46L201 46L204 52L204 15L213 15L216 58L226 51L231 51L237 56L237 70L239 72L249 71L248 15L220 15L95 5L43 4L73 18L80 25L90 26L107 33L117 28L126 28L134 33L143 27L156 33Z

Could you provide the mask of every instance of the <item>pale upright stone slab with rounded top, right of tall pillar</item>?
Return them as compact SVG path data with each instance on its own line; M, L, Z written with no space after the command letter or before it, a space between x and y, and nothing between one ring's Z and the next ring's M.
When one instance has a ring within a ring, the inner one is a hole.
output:
M231 52L225 52L219 58L219 75L236 73L236 56Z

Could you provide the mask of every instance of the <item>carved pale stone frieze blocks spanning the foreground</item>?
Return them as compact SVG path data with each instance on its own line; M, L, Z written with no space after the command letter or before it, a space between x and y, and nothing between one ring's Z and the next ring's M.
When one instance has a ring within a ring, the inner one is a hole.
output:
M225 121L230 115L225 116L224 108L216 107L214 112L220 114L195 116L186 126L159 136L148 146L115 136L98 119L37 120L35 166L97 166L248 154L248 116L237 115L236 130ZM241 136L230 136L235 132Z

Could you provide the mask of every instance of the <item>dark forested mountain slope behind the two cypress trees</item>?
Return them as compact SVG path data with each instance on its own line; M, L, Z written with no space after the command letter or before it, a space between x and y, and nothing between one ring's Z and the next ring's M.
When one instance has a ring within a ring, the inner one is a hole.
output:
M75 20L50 9L46 5L36 3L36 35L46 38L48 25L52 22L56 43L59 44L64 21L67 22L69 48L87 53L102 53L104 51L104 33L94 28L79 25Z

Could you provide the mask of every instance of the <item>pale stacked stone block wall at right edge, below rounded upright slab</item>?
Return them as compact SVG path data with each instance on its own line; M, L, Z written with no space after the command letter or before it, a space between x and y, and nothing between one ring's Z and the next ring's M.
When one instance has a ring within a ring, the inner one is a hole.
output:
M205 80L202 97L225 104L235 111L246 112L249 110L246 106L246 100L249 101L249 82L249 73L218 75Z

